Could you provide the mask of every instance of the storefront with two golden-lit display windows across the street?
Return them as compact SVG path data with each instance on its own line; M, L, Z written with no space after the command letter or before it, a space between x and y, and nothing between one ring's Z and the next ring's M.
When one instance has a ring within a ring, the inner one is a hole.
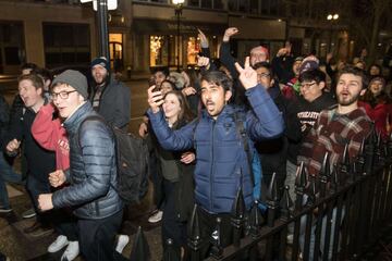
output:
M180 37L174 21L134 20L134 53L135 69L145 71L156 66L177 66L177 55L181 67L194 66L200 51L198 32L200 29L209 39L211 58L218 57L219 39L221 39L225 24L205 24L182 21ZM146 44L148 48L146 48ZM138 58L137 58L138 57ZM143 62L148 57L148 63Z

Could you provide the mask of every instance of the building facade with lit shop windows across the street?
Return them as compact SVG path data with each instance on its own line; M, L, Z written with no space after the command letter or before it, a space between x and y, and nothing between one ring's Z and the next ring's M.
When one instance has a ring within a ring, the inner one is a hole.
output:
M194 66L200 50L197 29L208 37L211 57L228 27L240 34L231 41L238 60L262 45L271 55L293 44L295 54L334 52L355 55L355 42L340 21L327 21L319 0L186 0L181 15L172 0L119 0L110 11L109 51L115 71L146 74L156 66ZM78 0L0 0L0 74L17 74L34 62L54 69L88 65L98 55L96 12Z

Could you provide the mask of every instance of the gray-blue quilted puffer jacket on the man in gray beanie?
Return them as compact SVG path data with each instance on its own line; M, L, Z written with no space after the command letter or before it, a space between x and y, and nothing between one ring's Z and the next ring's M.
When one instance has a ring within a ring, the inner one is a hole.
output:
M79 107L65 122L70 140L71 186L53 194L53 207L75 207L81 219L105 219L122 210L117 186L114 138L111 129L99 120L89 102Z

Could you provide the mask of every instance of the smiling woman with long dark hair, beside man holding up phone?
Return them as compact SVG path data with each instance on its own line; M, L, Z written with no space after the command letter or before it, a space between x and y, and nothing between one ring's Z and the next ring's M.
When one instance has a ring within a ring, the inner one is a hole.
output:
M193 113L181 91L169 91L163 99L162 110L170 128L181 128L193 120ZM175 260L181 260L186 246L186 221L191 216L194 204L193 162L195 153L193 151L164 150L157 140L154 140L152 144L158 158L161 197L164 200L162 246L164 250L168 240L172 239L173 249L177 253Z

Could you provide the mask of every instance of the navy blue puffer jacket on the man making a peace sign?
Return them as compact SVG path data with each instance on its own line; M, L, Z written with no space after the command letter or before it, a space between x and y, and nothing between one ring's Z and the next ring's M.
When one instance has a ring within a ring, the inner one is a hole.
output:
M283 120L270 96L260 85L248 89L252 105L246 112L245 126L252 140L273 138L283 132ZM249 209L253 185L234 115L236 109L225 105L217 120L206 111L201 117L172 130L163 113L148 111L155 134L163 149L196 149L195 199L210 213L230 213L237 189L242 187L246 208Z

